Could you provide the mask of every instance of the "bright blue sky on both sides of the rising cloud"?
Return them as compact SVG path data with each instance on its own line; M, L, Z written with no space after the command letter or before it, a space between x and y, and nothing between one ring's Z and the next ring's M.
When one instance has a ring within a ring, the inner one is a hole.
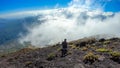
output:
M0 0L0 14L13 11L38 10L59 7L66 7L71 0ZM100 5L105 4L105 11L119 12L120 0L100 0Z

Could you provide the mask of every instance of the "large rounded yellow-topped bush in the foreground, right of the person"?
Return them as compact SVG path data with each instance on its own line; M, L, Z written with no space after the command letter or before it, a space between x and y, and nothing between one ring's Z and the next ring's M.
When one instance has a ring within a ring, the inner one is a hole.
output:
M86 54L83 58L84 58L83 61L84 61L85 63L90 63L90 64L92 64L93 62L95 62L96 60L98 60L99 56L93 54L92 52L89 52L89 53Z

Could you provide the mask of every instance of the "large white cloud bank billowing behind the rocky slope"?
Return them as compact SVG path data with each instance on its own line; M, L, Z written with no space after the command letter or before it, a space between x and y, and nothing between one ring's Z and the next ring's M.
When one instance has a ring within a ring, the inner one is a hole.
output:
M101 9L90 10L89 7L77 5L80 0L73 0L66 8L41 10L37 12L41 22L28 28L28 34L22 35L20 42L31 42L34 46L68 41L83 37L108 34L120 36L120 12L104 12ZM86 0L85 5L90 5Z

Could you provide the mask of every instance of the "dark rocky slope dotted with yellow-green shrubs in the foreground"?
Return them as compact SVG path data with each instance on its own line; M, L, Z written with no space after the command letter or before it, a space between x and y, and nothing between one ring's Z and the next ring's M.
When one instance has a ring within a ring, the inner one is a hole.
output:
M61 57L60 44L24 48L1 55L0 68L120 68L120 39L71 41L65 57Z

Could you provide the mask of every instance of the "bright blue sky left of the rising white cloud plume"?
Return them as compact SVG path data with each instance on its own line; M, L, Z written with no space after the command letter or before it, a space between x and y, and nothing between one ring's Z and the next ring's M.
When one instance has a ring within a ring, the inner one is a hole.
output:
M53 8L57 4L65 7L70 0L0 0L0 13Z

